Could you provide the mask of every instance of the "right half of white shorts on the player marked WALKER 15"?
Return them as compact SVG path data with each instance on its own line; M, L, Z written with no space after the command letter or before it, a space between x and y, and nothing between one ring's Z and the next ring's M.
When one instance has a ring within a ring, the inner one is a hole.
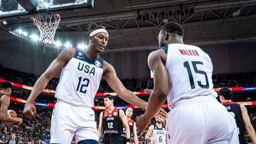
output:
M208 143L238 144L238 128L235 119L218 101L208 105L210 135Z

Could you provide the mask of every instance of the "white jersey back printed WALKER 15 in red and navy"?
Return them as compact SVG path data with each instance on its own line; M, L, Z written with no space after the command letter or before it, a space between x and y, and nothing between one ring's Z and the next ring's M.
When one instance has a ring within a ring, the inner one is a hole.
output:
M169 72L169 108L181 99L217 94L213 91L213 64L201 48L194 45L170 44L164 46L167 53L166 68Z

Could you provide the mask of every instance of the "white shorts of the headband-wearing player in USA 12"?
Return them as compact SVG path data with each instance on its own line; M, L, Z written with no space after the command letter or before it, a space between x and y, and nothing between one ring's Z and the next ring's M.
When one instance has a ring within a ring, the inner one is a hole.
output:
M73 106L58 100L53 109L50 143L68 144L73 140L97 140L95 112L85 106Z

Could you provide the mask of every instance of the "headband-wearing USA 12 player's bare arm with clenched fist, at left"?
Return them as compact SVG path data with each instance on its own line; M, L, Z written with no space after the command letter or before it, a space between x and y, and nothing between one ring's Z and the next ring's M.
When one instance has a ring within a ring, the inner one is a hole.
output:
M28 100L26 101L25 108L23 110L24 116L31 118L36 113L36 106L34 106L33 101L37 96L46 88L46 85L73 57L75 54L75 48L65 48L58 57L51 62L50 66L44 72L41 77L36 81Z

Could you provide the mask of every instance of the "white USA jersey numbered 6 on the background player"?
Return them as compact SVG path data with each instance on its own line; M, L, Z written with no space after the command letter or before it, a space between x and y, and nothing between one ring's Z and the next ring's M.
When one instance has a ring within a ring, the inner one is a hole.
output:
M154 144L166 144L166 127L162 126L159 128L154 124L154 130L151 134L151 138L156 140L156 143Z

